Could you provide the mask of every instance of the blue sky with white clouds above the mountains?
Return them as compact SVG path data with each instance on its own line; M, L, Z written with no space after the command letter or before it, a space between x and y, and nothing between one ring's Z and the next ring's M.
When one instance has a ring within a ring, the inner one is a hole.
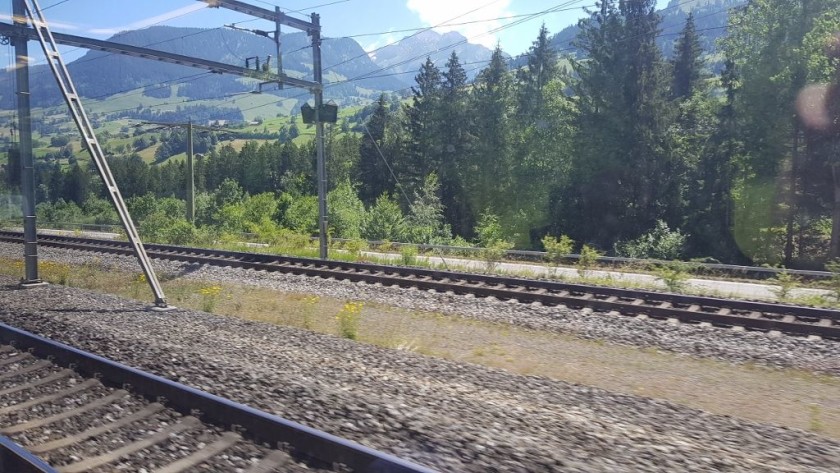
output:
M471 43L490 48L499 43L511 55L528 49L543 22L551 33L556 33L584 16L583 7L594 4L594 0L242 1L270 10L279 6L290 16L307 20L311 13L319 13L325 37L351 36L367 51L397 41L418 28L435 27L439 32L458 31ZM216 28L251 20L197 0L39 0L39 4L54 31L100 39L152 25ZM0 21L9 22L11 5L11 0L0 0ZM273 30L270 23L262 20L240 26Z

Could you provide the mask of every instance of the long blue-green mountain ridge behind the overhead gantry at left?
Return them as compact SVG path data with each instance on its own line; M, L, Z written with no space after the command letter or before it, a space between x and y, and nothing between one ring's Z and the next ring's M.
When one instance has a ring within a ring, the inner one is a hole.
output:
M176 28L153 26L142 30L126 31L111 37L109 41L144 46L151 49L198 57L228 64L245 65L245 58L276 56L274 43L266 38L244 31L223 28ZM284 71L293 77L312 77L312 53L306 33L290 33L282 36ZM30 47L34 47L30 46ZM329 87L327 98L369 97L371 90L396 90L405 84L395 77L383 75L370 60L359 44L348 38L326 38L322 46L325 81L341 82L370 75L370 78L354 80ZM276 58L272 59L272 67ZM333 67L331 67L333 66ZM232 75L201 75L203 70L186 66L167 64L154 60L140 59L89 51L81 58L68 64L68 70L79 93L86 98L104 98L116 93L142 88L152 84L162 92L159 84L177 83L183 78L186 85L178 88L178 95L187 99L221 98L227 94L247 92L256 85L253 80ZM198 76L200 75L200 78ZM61 103L61 97L47 66L35 66L30 72L33 106L51 106ZM11 72L0 74L0 82L14 83ZM8 109L14 105L12 87L0 88L0 107ZM287 97L306 95L306 91L287 89L278 92Z

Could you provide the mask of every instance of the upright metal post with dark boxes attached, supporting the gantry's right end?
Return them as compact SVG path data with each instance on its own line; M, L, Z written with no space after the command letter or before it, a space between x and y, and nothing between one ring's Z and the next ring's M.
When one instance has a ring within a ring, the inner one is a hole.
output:
M321 17L312 14L312 71L315 82L322 83L321 67ZM321 259L327 259L327 166L324 156L324 122L321 120L321 106L324 105L324 89L315 91L315 147L318 168L318 253Z

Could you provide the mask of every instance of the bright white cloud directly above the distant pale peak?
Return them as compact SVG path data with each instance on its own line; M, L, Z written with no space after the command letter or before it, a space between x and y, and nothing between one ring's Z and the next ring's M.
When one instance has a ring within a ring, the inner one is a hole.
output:
M493 48L498 37L489 31L502 26L503 21L479 21L466 25L457 23L510 16L513 14L509 10L510 4L511 0L496 0L492 3L488 0L407 0L406 6L417 14L423 24L435 26L436 31L457 31L466 36L470 43Z

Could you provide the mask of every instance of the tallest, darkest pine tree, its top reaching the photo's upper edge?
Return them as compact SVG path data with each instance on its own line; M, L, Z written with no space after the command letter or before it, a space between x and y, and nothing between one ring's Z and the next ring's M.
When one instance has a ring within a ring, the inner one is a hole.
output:
M667 90L653 0L598 4L580 23L574 187L555 200L576 240L610 247L653 227L675 199L663 150ZM558 210L559 209L559 210Z

